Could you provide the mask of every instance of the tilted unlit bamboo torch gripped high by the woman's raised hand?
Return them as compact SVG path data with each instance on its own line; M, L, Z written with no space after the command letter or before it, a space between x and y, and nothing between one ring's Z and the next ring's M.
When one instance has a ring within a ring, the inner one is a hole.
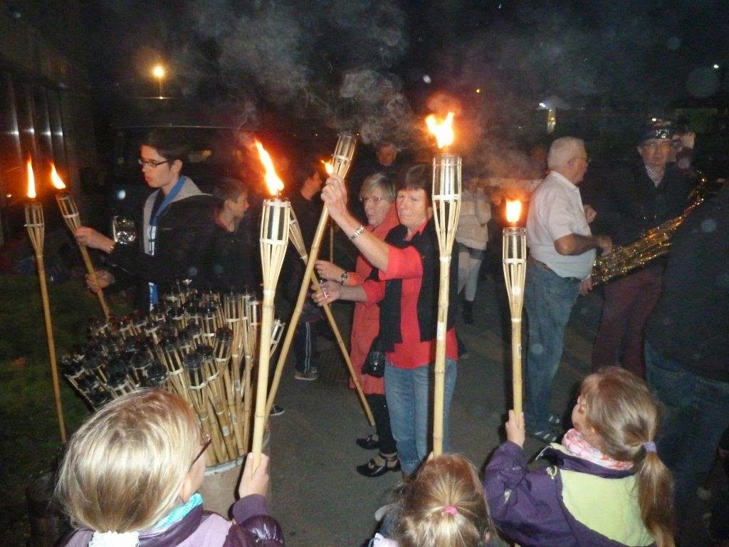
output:
M346 179L349 167L352 163L352 158L354 158L356 144L356 136L352 133L340 133L337 141L337 147L332 155L332 174L338 174L338 176L342 179ZM299 296L296 300L294 313L289 320L289 328L286 329L286 336L284 337L284 344L281 346L281 353L278 354L276 373L273 376L273 383L271 384L269 395L269 398L272 401L271 404L273 404L273 400L276 400L276 392L278 391L278 384L281 381L281 373L284 371L286 357L289 356L291 342L294 339L294 333L299 323L299 317L301 317L304 300L308 293L309 282L314 271L314 263L316 262L317 257L319 257L321 238L324 236L324 230L327 228L327 220L329 220L329 208L327 207L327 203L324 203L324 207L321 209L321 217L319 217L319 225L316 226L316 232L314 233L314 238L311 243L311 251L309 252L308 262L306 263L306 268L304 270L304 278L302 279L301 287L299 288ZM374 421L370 420L370 424L374 424Z

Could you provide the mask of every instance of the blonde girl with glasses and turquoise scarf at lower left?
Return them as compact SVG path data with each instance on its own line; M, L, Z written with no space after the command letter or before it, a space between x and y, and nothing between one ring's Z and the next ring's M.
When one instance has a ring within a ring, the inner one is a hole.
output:
M141 389L93 414L69 442L56 495L78 529L65 547L283 547L268 516L268 458L246 461L235 522L197 493L210 439L182 397Z

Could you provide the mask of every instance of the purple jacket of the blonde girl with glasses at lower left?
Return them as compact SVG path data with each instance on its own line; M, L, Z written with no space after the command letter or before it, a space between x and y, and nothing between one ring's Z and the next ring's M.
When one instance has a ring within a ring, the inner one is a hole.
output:
M284 532L268 516L265 497L252 494L233 505L235 524L217 513L194 508L179 522L139 535L139 547L284 547ZM79 529L61 547L87 547L93 530Z

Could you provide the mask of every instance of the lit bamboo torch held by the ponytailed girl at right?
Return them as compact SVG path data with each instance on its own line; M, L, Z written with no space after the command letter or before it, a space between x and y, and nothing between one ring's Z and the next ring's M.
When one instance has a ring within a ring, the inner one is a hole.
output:
M526 230L516 225L520 216L521 202L507 201L506 217L509 226L504 228L503 263L504 282L511 311L511 382L514 411L517 415L522 411L521 311L524 305L526 280Z

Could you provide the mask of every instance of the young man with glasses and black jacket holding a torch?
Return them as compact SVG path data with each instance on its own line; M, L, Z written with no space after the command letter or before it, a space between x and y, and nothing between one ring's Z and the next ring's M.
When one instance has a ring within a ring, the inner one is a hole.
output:
M187 144L179 131L155 130L142 141L139 164L155 191L144 203L139 247L116 242L82 226L79 243L106 252L110 271L97 271L99 285L138 286L135 308L148 311L175 282L206 279L214 238L214 198L182 175ZM91 287L90 279L87 284ZM91 287L92 289L94 287Z

